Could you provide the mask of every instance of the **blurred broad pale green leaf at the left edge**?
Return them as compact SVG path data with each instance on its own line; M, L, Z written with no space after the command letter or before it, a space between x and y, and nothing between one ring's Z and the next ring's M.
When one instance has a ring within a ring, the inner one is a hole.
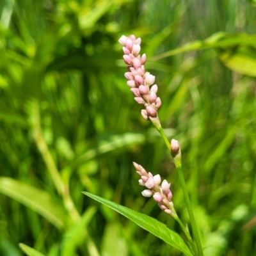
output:
M42 215L57 228L64 228L67 215L61 205L56 204L52 196L41 189L7 177L0 177L0 193L10 196L33 211Z

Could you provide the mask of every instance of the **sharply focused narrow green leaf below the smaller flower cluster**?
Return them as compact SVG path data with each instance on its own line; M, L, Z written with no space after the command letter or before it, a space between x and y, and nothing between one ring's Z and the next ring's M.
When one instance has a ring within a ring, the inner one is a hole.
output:
M186 243L183 241L183 239L177 233L173 232L168 227L166 227L166 225L164 225L160 221L157 221L156 219L151 218L140 212L133 211L127 207L118 205L114 202L101 198L100 196L96 196L88 192L83 192L83 193L84 195L90 196L94 200L104 205L107 205L108 207L115 210L116 212L119 212L129 220L134 221L138 226L140 226L141 228L144 228L154 236L159 237L165 243L170 244L173 247L179 249L181 252L185 253L185 255L188 255L188 256L193 255L189 250L188 246L186 245Z

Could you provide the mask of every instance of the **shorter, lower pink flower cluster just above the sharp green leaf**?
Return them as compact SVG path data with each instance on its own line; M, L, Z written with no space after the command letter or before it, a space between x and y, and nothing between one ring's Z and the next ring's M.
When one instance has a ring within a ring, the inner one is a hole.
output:
M140 164L133 163L133 165L138 175L141 176L139 184L148 188L143 190L141 194L146 197L153 196L154 200L164 212L171 216L176 216L177 214L172 202L172 192L170 191L171 184L166 180L163 180L161 184L159 174L153 176L152 173L147 172Z

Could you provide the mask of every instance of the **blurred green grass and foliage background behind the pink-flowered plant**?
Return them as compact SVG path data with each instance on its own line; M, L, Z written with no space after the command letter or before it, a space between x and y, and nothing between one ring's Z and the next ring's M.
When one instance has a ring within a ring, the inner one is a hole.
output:
M166 135L180 141L205 256L256 255L255 5L0 1L0 255L24 255L19 243L49 256L181 255L81 193L184 237L141 196L132 166L172 183L188 223L164 141L126 86L118 38L130 34L156 76Z

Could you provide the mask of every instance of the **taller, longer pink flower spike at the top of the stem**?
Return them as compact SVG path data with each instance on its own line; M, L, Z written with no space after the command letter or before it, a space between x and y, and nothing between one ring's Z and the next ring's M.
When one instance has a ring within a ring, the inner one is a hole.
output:
M141 110L141 115L145 120L156 118L162 102L156 95L158 88L154 84L155 76L145 72L146 54L140 56L141 38L136 39L134 35L121 36L118 42L123 45L124 62L129 65L129 72L125 73L127 85L131 87L136 102L145 106L145 109Z

